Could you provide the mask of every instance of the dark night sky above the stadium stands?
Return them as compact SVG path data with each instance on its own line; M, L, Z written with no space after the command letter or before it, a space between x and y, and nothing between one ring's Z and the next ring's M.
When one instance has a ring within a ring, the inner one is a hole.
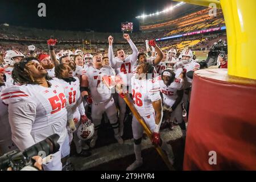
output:
M38 4L46 4L46 17L38 16ZM135 16L162 11L175 5L170 0L1 0L0 23L58 30L94 30L121 32L122 22L133 22L139 29Z

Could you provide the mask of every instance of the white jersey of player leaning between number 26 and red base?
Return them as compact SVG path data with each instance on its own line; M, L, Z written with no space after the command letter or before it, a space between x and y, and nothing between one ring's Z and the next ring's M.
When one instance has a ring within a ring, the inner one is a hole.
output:
M160 76L159 76L160 77ZM176 78L169 86L164 84L163 80L159 78L160 91L163 94L163 103L172 106L177 99L177 90L183 89L184 81L182 78Z

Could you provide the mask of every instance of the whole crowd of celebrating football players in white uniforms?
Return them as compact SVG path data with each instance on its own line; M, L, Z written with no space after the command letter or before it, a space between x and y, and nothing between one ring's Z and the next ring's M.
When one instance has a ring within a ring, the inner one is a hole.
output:
M109 88L102 80L107 76L120 78L122 94L152 132L152 144L161 147L170 164L174 164L174 152L170 144L161 139L160 126L169 123L173 129L173 123L177 122L185 137L184 117L192 86L190 75L200 69L200 64L192 59L189 49L176 57L174 48L163 52L155 40L146 40L147 52L139 52L129 34L123 38L133 51L130 55L123 49L113 51L113 36L108 38L106 55L97 52L91 55L80 49L55 52L57 41L53 39L47 41L49 55L25 56L16 50L6 51L0 68L3 116L0 151L25 150L56 133L60 136L60 150L43 169L62 170L68 166L72 140L77 154L86 157L90 155L88 149L104 139L98 135L103 117L109 120L117 142L125 144L124 121L130 110L115 87ZM131 125L136 160L127 170L143 164L143 126L134 115Z

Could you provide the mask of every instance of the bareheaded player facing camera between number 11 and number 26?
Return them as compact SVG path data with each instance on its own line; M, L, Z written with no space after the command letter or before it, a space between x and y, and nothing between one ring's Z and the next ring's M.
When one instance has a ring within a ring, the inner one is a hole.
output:
M113 69L109 66L102 65L101 53L93 55L93 66L82 75L81 80L81 94L88 104L92 104L92 121L95 126L95 133L90 141L90 147L94 147L98 138L98 128L100 127L102 114L106 112L108 115L110 124L114 130L114 137L118 143L122 144L123 139L120 136L118 129L117 109L115 107L112 93L108 87L101 81L103 76L115 75ZM89 98L89 90L92 96ZM89 100L88 100L89 98Z

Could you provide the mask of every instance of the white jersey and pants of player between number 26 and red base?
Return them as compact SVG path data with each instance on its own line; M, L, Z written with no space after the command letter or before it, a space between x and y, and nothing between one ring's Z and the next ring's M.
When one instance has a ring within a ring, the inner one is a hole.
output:
M163 80L160 79L160 76L159 80L160 90L163 94L163 104L171 107L172 105L174 105L177 99L177 91L183 89L184 81L182 78L176 78L169 86L167 86L166 84L164 84ZM178 123L181 123L183 121L181 107L182 102L183 101L180 101L176 109L171 113L171 121L173 121L174 118L177 119Z

